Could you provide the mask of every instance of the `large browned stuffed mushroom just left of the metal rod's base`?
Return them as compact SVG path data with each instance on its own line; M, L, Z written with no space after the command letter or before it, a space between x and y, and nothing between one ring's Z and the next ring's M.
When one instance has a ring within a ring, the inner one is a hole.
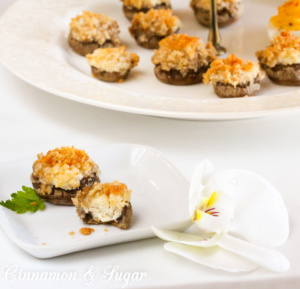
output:
M204 46L198 37L174 34L159 43L152 62L155 75L168 84L188 85L202 82L203 73L216 58L211 43Z

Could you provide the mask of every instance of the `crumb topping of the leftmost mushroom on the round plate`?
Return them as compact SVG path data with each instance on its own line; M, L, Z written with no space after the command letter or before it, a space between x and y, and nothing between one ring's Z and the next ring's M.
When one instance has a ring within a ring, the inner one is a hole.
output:
M71 20L70 33L81 42L98 42L102 45L111 41L114 46L120 45L117 21L102 14L83 11L82 15Z

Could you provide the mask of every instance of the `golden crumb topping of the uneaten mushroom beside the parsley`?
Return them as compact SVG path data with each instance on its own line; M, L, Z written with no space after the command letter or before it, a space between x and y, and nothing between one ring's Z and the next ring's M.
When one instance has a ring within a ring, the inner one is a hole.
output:
M80 187L83 178L100 174L98 165L87 153L74 147L56 148L37 157L33 175L39 178L42 193L51 193L53 186L73 190Z

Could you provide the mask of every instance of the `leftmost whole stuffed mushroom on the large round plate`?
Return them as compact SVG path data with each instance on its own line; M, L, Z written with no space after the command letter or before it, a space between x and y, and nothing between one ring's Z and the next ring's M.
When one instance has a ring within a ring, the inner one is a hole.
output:
M115 20L84 11L71 20L68 42L76 53L86 55L100 47L119 46L119 33Z

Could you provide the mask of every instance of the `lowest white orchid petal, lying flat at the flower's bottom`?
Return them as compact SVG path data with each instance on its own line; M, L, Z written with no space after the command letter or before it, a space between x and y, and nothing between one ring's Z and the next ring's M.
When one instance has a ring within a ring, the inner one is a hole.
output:
M164 248L169 252L213 269L247 272L258 267L255 263L217 246L200 248L169 242L164 245Z

